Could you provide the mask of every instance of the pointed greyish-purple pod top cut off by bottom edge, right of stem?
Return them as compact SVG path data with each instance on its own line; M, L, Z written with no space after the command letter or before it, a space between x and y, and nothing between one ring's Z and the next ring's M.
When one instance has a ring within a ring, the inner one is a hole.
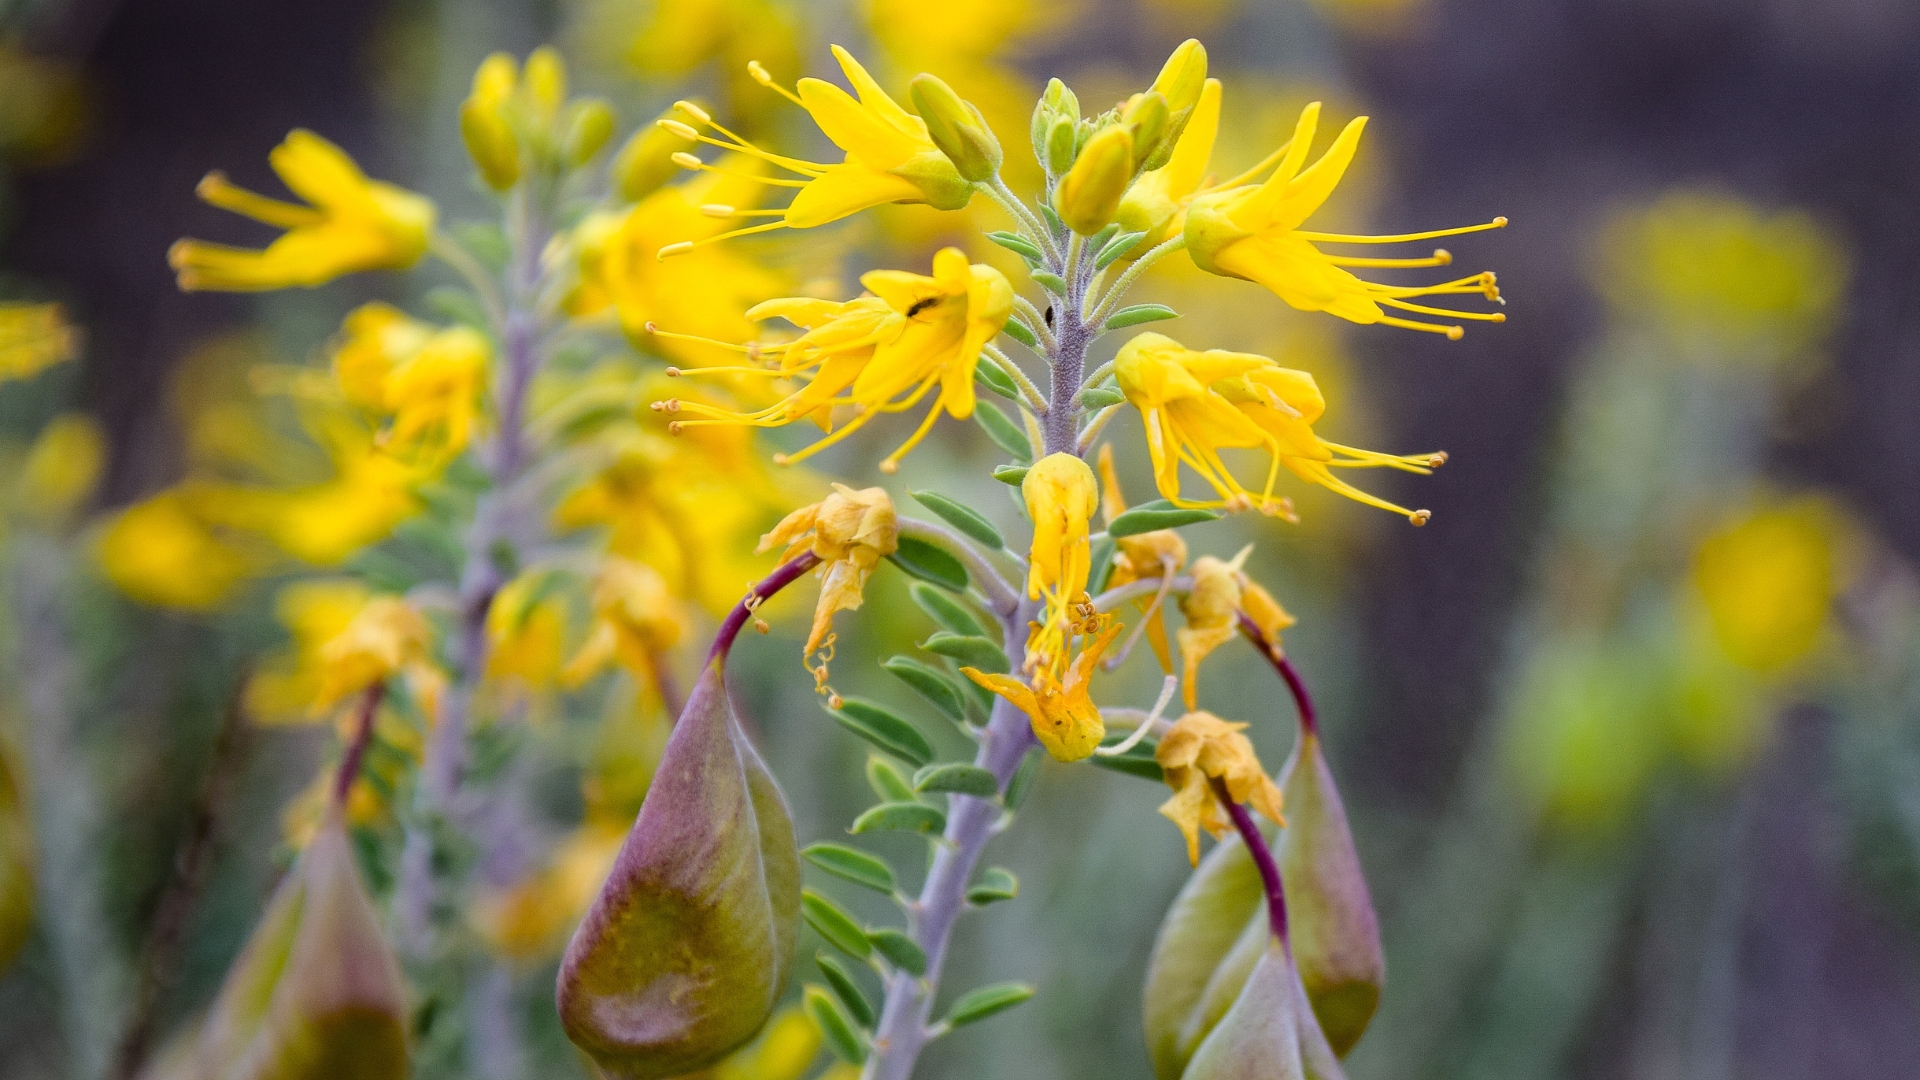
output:
M1265 936L1233 1007L1194 1049L1181 1080L1346 1080L1279 938Z

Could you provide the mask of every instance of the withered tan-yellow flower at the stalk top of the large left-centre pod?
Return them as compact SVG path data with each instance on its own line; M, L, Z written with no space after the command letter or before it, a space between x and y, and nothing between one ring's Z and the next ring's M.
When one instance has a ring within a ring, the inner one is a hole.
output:
M881 559L900 546L900 525L885 488L852 490L833 484L833 494L789 513L760 538L760 552L785 544L781 563L804 552L820 557L814 575L820 578L820 603L814 605L814 625L806 634L804 657L828 646L831 650L833 613L860 607L860 590ZM816 678L826 673L820 663Z

